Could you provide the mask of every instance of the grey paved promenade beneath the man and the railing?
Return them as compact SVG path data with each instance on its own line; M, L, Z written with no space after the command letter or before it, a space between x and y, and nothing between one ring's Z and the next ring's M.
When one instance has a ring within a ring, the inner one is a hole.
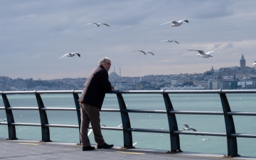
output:
M0 139L0 159L227 159L221 154L186 151L169 154L166 152L167 150L156 149L121 149L121 146L114 146L112 149L82 151L82 147L75 143ZM240 156L232 159L256 160L256 157Z

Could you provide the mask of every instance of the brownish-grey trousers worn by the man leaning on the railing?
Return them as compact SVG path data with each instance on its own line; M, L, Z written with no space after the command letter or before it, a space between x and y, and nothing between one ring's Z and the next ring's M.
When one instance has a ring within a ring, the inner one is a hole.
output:
M87 136L88 127L91 123L92 132L95 137L95 142L98 146L105 144L103 139L101 128L100 128L100 109L92 105L87 105L80 102L80 112L81 112L81 128L80 128L80 138L82 146L90 146L90 139Z

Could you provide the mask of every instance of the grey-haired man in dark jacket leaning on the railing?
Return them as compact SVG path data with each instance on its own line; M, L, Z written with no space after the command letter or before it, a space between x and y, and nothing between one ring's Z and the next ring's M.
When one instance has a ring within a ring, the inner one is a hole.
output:
M80 138L82 141L82 151L95 149L94 146L90 145L90 139L87 136L90 123L95 142L97 143L97 149L108 149L114 146L105 142L100 128L100 110L105 93L114 90L114 87L111 86L108 80L107 72L110 70L110 66L110 58L105 57L100 60L97 68L92 70L92 73L88 76L78 100L81 112Z

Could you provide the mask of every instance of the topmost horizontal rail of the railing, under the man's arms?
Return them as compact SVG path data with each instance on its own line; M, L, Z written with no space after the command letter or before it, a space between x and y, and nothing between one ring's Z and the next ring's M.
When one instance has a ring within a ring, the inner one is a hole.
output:
M82 90L33 90L33 91L0 91L0 94L73 94L81 93ZM255 89L252 90L114 90L108 93L121 93L121 94L163 94L163 93L175 93L175 94L220 94L220 93L256 93Z

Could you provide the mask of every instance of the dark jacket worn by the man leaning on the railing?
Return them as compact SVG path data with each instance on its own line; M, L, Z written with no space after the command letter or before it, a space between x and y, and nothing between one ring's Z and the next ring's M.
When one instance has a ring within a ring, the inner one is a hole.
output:
M85 86L80 95L79 102L95 106L101 110L106 92L110 92L112 86L108 80L108 73L102 65L97 66L85 81Z

